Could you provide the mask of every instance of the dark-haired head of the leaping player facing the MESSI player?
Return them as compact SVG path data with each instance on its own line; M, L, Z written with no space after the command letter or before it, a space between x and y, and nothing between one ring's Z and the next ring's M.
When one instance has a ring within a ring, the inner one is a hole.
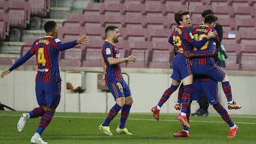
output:
M174 18L178 26L191 27L191 17L189 16L190 11L177 11L174 13Z

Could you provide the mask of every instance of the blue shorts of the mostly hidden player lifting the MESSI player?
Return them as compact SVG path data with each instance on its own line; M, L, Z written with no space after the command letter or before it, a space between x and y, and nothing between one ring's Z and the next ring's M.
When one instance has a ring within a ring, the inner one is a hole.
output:
M193 81L193 93L191 100L198 100L202 96L206 95L206 99L209 104L217 104L220 102L218 98L218 82L213 79L196 79Z

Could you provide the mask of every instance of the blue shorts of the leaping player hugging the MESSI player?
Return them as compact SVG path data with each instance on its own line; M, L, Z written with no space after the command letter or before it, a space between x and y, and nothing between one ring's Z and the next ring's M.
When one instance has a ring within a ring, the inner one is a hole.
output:
M174 72L171 74L171 78L178 82L192 74L190 60L180 53L174 57L173 69Z

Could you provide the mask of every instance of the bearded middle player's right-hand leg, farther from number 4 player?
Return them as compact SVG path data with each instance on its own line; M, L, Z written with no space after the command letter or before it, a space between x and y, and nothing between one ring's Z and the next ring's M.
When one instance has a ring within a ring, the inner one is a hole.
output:
M133 99L131 96L132 94L126 82L124 81L122 82L122 87L123 87L123 92L125 96L125 104L124 106L122 106L120 123L119 123L119 126L117 126L116 128L116 132L122 133L125 135L132 135L132 133L130 133L128 129L125 127L125 123L127 121L127 118L129 117L129 111L133 103Z

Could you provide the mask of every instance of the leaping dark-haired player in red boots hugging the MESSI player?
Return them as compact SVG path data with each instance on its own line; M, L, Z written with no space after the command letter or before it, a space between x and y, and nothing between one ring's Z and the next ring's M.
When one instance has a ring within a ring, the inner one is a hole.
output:
M161 106L169 99L169 96L176 91L181 80L184 85L184 92L182 96L182 109L181 113L178 115L178 120L183 123L183 125L189 126L186 120L186 108L188 107L188 100L193 91L193 74L191 71L191 63L189 58L184 57L183 53L186 51L193 50L193 47L201 48L210 38L215 38L215 33L208 33L206 38L197 41L189 28L191 27L191 17L190 11L178 11L174 14L175 21L178 26L174 29L174 32L169 38L169 43L178 48L178 53L174 57L173 69L174 72L171 74L172 82L171 87L166 89L164 94L161 96L159 103L154 106L151 111L153 112L154 118L159 120L159 110Z

